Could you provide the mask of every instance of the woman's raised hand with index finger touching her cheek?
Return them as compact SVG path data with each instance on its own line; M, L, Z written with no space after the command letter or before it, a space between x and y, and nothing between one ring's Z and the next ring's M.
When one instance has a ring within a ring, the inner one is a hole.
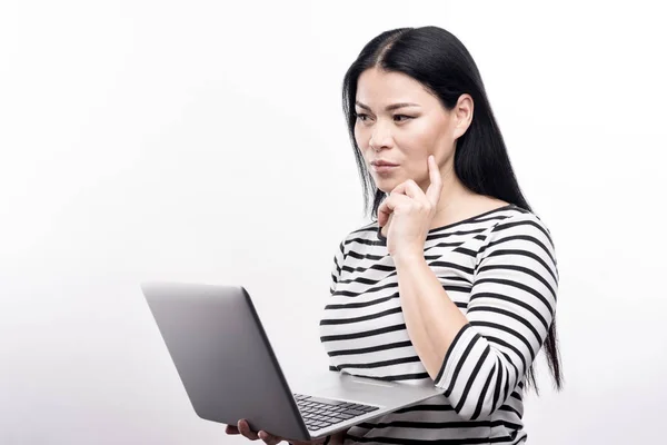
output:
M426 194L408 179L399 184L378 208L378 225L389 222L387 249L392 258L424 256L424 244L436 215L442 190L440 170L432 156L428 157L430 185Z

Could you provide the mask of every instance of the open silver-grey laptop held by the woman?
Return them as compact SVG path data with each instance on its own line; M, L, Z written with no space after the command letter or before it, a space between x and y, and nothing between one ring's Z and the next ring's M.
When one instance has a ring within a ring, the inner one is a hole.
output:
M203 419L236 425L245 418L255 432L312 441L444 393L432 382L415 385L330 370L292 389L242 286L145 283L141 289L192 408Z

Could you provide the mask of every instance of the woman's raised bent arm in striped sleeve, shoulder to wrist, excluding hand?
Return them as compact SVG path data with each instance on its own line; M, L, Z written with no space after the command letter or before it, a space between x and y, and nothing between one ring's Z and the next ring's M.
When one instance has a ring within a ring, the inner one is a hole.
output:
M487 234L466 315L424 257L398 257L396 268L410 339L436 386L462 418L490 415L526 375L554 317L558 274L547 229L526 214Z

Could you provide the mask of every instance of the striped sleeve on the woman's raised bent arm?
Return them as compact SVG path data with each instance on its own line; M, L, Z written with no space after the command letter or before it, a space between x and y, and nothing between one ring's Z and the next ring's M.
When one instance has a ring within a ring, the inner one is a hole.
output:
M436 386L465 419L488 417L524 379L556 310L558 270L548 229L532 214L486 233L466 316Z

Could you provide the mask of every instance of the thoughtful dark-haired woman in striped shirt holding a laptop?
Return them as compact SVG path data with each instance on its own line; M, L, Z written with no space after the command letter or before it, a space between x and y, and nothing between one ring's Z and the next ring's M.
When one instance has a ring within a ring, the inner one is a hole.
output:
M525 442L521 400L542 345L561 386L558 270L475 61L440 28L384 32L349 68L344 108L377 221L334 258L320 322L330 368L445 393L327 441Z

